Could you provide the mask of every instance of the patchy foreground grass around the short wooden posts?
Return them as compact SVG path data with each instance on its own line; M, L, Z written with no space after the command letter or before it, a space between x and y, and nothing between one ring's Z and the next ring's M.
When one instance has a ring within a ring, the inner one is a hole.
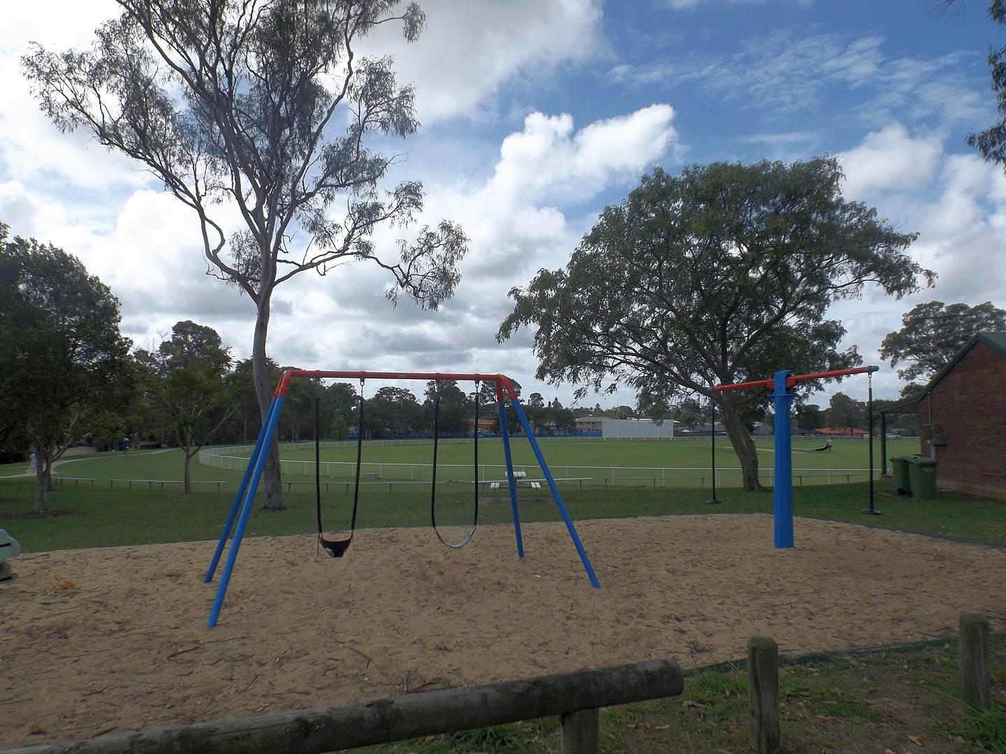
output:
M1006 754L1006 633L995 633L993 708L975 713L958 699L957 643L787 658L780 668L783 752L938 751ZM607 754L749 751L747 675L742 665L698 669L677 698L602 711ZM557 752L554 719L429 736L366 754Z

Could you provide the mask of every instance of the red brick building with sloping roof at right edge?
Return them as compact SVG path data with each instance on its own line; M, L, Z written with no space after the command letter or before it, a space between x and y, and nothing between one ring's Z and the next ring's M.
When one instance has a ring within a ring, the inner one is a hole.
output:
M921 393L883 409L917 412L919 454L944 490L1006 499L1006 333L979 333Z

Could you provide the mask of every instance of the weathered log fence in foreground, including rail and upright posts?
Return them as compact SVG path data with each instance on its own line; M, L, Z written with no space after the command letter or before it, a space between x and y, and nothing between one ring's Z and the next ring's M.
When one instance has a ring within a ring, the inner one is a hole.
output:
M991 707L989 619L960 618L961 690L978 709ZM262 715L179 728L100 736L9 749L0 754L323 754L360 746L456 733L557 716L561 754L600 752L600 710L675 697L684 676L673 659L602 668L491 686L408 694L374 702ZM782 751L779 645L747 642L748 741L757 754Z

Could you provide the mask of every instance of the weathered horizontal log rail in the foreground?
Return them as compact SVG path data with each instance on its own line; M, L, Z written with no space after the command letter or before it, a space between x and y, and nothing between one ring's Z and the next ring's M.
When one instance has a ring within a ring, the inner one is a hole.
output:
M321 754L553 716L563 718L564 739L579 741L584 735L584 720L593 720L596 724L597 716L584 717L575 713L674 697L683 689L684 676L678 664L673 659L657 659L492 686L406 694L376 702L43 744L0 754L252 754L264 751Z

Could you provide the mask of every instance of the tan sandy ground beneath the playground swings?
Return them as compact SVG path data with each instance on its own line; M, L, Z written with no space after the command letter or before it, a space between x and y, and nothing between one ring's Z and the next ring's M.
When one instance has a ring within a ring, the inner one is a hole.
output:
M346 556L249 539L219 623L215 543L21 555L0 587L0 748L166 728L671 656L842 650L1006 627L1006 550L768 516L486 526L459 551L430 530L366 530ZM219 575L219 574L218 574Z

